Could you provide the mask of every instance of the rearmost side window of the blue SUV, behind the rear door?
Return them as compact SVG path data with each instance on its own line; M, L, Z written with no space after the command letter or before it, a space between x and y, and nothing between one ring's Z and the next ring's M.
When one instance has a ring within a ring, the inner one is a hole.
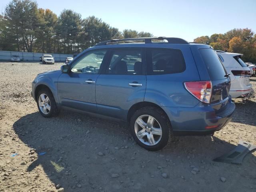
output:
M147 75L174 74L186 70L184 56L179 49L148 48Z

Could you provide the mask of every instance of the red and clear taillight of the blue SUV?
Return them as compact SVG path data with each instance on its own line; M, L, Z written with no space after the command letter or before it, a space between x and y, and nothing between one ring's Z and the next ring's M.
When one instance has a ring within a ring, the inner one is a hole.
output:
M210 103L212 96L211 81L190 81L184 83L185 88L201 102Z

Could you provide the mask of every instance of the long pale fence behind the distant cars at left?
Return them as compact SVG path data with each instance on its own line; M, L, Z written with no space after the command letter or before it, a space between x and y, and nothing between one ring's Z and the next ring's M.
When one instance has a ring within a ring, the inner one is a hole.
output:
M28 53L28 52L16 52L16 51L0 51L0 60L11 60L14 55L20 56L23 61L38 61L41 56L46 53ZM68 54L50 54L54 57L54 61L65 61L66 57L73 57Z

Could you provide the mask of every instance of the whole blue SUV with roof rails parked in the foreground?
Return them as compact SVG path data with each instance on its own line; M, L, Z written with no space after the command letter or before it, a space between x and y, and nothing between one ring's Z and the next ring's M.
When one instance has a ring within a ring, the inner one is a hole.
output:
M173 135L226 126L235 110L230 82L209 45L130 38L101 42L60 70L38 74L32 96L46 118L60 108L108 116L128 122L140 146L160 150Z

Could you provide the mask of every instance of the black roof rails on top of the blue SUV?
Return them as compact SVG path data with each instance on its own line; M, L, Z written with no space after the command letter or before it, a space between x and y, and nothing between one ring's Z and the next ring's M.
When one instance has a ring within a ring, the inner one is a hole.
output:
M118 42L128 42L128 43L136 43L135 41L144 40L145 43L152 43L152 40L167 40L170 44L189 44L184 39L175 38L175 37L144 37L144 38L126 38L126 39L112 39L108 41L100 42L94 46L108 45L108 44L118 44Z

